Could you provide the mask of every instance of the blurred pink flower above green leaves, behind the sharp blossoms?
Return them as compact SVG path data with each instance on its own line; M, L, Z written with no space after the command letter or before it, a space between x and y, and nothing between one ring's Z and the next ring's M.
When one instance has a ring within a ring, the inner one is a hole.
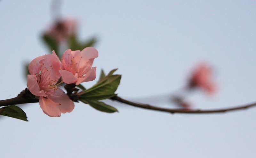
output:
M75 34L75 31L75 20L61 20L53 25L47 34L52 36L58 43L60 43L67 40L69 36Z

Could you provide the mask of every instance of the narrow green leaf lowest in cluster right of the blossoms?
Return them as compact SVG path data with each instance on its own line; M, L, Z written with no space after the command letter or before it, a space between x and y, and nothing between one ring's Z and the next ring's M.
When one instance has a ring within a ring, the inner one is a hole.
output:
M92 101L92 100L85 100L85 99L82 99L81 101L84 102L85 104L91 105L94 109L99 110L99 111L109 112L109 113L117 111L116 108L114 108L114 107L112 107L110 105L107 105L107 104L105 104L103 102Z

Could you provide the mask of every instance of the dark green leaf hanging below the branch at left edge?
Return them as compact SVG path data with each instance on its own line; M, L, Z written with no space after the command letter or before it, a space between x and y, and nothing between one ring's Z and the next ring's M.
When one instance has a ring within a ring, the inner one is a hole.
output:
M1 108L0 115L28 121L26 113L22 109L20 109L20 107L15 105L9 105Z

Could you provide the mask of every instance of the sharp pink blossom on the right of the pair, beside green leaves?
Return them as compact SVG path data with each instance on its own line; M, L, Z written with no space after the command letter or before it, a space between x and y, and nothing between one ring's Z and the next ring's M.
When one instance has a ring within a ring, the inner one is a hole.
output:
M94 58L98 57L98 51L93 47L64 52L61 59L62 69L59 70L62 81L79 85L82 82L93 81L96 78L96 67L92 67Z

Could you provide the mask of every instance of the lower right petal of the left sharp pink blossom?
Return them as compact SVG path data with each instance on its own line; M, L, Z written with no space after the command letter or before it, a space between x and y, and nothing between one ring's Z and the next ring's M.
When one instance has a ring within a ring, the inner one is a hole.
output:
M75 104L72 100L69 99L68 95L66 95L63 90L57 89L54 91L52 95L47 96L54 103L58 104L58 107L62 113L73 111Z

